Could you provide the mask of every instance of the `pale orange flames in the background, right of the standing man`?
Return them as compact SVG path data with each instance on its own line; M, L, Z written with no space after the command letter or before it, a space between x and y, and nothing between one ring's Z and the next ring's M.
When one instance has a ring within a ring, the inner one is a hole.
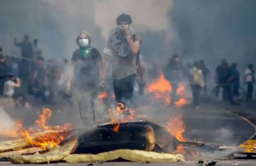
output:
M149 92L155 93L156 99L163 99L164 105L169 105L171 103L170 93L172 92L172 85L169 81L164 78L163 73L156 79L156 81L152 82L148 86ZM179 87L177 89L177 94L182 94L185 92L185 87L179 83ZM175 106L180 107L187 104L187 100L185 98L181 98L179 101L174 102Z

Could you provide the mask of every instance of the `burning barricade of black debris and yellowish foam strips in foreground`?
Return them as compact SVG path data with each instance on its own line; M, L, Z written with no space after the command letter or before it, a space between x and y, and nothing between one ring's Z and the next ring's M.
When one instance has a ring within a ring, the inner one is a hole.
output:
M123 108L109 110L112 118L124 113ZM137 162L184 161L180 154L169 154L174 151L174 137L165 128L149 121L134 122L134 114L90 130L72 130L69 124L47 126L50 116L51 110L44 108L36 129L25 130L17 121L13 131L4 131L2 135L18 139L0 143L0 156L12 163L96 162L119 158ZM163 135L164 139L159 137Z

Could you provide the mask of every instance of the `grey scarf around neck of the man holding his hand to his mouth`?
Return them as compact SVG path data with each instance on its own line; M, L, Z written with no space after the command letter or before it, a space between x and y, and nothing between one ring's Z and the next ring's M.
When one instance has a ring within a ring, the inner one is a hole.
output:
M131 36L134 35L134 30L130 28L130 26L128 28L128 31ZM129 44L127 43L126 36L119 28L116 28L116 32L111 37L111 39L111 46L113 48L113 51L116 52L118 56L127 57L129 54L131 54L132 51Z

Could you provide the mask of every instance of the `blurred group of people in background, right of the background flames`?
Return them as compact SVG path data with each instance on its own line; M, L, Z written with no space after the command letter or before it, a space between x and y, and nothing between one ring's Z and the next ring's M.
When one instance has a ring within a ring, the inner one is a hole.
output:
M180 74L188 78L191 86L194 107L197 108L200 103L201 91L204 92L204 96L208 96L208 86L210 78L210 70L205 66L204 60L194 61L188 63L186 67L180 65L178 55L174 54L170 58L169 63L163 68L164 76L170 81L172 85L172 104L176 101L176 90L180 82ZM229 101L231 105L240 104L240 95L245 95L245 100L252 100L253 86L255 84L255 74L253 65L249 64L248 68L244 71L244 85L246 85L246 94L240 94L240 72L237 69L237 64L228 64L226 59L222 59L220 65L218 65L214 72L214 81L216 83L213 89L213 95L218 98L220 88L222 88L222 99Z

